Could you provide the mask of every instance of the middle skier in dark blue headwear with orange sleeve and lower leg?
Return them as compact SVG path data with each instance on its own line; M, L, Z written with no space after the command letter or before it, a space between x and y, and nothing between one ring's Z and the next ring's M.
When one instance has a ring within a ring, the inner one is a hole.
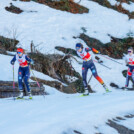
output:
M87 80L86 80L88 69L91 70L93 76L99 81L99 83L101 85L103 85L106 92L109 91L107 86L104 84L103 80L98 76L96 67L95 67L93 60L91 58L91 55L89 53L89 51L91 51L91 50L95 53L99 53L94 48L92 48L92 49L91 48L83 48L83 45L81 43L76 44L77 54L79 55L79 57L81 57L83 59L82 78L83 78L83 85L84 85L84 89L85 89L85 92L83 93L83 95L89 95L89 89L88 89L88 84L87 84Z

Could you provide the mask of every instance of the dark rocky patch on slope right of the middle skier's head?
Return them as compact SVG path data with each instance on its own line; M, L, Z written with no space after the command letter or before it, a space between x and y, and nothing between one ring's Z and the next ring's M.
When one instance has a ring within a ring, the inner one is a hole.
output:
M123 39L115 38L112 36L110 37L111 42L104 44L99 40L91 38L84 33L80 34L79 36L79 38L82 39L87 44L87 46L93 47L99 50L102 54L116 59L122 58L123 53L126 53L129 47L134 47L134 38L132 37L127 37Z

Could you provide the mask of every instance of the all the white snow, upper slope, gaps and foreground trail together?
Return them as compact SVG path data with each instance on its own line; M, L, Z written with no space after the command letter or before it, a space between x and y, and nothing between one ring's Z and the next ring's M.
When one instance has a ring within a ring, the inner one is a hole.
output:
M114 0L109 0L114 4ZM25 12L13 14L4 8L12 2ZM118 13L112 9L102 7L96 2L83 0L81 5L89 8L89 13L71 14L59 10L51 9L48 6L35 2L20 2L12 0L0 0L0 35L13 37L13 31L17 30L19 46L30 51L30 43L40 46L37 48L44 54L61 53L55 50L55 46L75 48L76 42L85 43L80 39L74 39L85 27L86 34L96 38L103 43L110 41L108 34L115 37L126 37L131 30L134 32L134 20L128 20L128 16ZM29 12L37 11L37 12ZM10 52L14 54L14 52ZM92 58L95 56L92 54ZM106 69L95 63L99 76L106 85L111 82L124 86L125 77L123 70L127 70L124 60L117 60L123 65L101 57ZM0 54L0 80L12 81L13 71L10 64L13 56ZM75 57L78 61L81 60ZM81 66L74 59L72 65L81 74ZM18 64L15 64L15 81L17 81ZM44 80L55 80L47 75L34 70L36 77ZM31 74L32 75L32 74ZM89 79L91 71L88 72ZM90 85L97 93L87 97L79 97L80 94L64 94L56 89L45 86L49 95L34 96L33 100L8 100L0 99L0 130L2 134L74 134L73 130L83 134L93 134L101 132L104 134L116 134L117 131L106 125L108 119L116 116L134 114L134 92L121 91L109 87L112 93L102 95L103 87L92 78ZM130 87L132 83L130 83ZM11 98L10 98L11 99ZM123 123L123 122L122 122ZM126 126L133 123L133 119L124 122ZM98 127L96 129L95 127Z

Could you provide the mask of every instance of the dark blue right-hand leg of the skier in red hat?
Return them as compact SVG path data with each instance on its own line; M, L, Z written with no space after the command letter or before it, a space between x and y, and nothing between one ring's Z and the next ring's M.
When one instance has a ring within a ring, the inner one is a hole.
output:
M28 93L30 93L29 78L30 78L30 70L29 70L29 67L25 67L24 82L25 82L25 85L26 85L26 88L27 88Z

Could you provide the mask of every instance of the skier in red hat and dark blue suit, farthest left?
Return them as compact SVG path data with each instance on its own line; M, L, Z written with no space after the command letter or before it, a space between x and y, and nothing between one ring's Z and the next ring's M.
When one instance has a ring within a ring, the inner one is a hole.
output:
M25 53L22 48L17 49L17 54L13 57L11 60L11 64L14 65L15 61L18 61L19 63L19 69L18 69L18 85L20 90L20 95L17 97L17 99L23 99L23 82L26 85L29 99L32 99L32 95L30 92L30 86L29 86L29 77L30 77L30 68L29 63L33 64L33 60L30 59Z

